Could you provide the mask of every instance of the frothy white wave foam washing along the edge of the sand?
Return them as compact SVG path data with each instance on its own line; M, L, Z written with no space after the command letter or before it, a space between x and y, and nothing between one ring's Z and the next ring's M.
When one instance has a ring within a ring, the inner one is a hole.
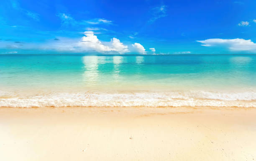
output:
M0 92L0 107L256 107L256 92L78 92L21 96Z

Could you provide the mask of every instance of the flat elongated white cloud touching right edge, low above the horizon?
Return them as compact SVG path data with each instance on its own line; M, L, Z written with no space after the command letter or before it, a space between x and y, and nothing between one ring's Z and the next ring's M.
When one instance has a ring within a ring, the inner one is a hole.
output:
M221 39L210 38L207 40L197 41L203 43L203 46L225 46L231 51L256 51L256 43L243 38Z

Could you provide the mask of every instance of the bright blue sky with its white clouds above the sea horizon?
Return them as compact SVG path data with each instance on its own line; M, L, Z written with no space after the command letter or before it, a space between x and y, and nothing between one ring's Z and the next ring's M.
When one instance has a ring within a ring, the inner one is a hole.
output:
M0 54L255 54L255 0L5 0Z

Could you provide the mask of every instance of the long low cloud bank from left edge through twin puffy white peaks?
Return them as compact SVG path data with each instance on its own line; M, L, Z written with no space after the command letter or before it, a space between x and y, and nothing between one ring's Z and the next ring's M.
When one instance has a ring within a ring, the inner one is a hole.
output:
M56 41L58 40L58 41ZM17 41L18 42L18 41ZM85 31L82 38L58 37L49 40L46 43L24 43L18 45L13 41L0 43L0 49L38 49L54 51L71 52L98 52L98 53L119 53L130 52L128 46L120 42L118 38L112 38L111 41L100 41L93 31Z

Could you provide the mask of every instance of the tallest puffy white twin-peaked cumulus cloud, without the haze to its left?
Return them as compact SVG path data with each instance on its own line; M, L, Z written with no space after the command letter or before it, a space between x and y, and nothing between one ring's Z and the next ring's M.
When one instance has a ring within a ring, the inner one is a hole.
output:
M97 52L117 51L120 54L129 52L128 46L121 43L117 38L112 38L109 43L104 43L94 35L93 31L85 31L84 35L85 36L83 36L82 40L78 43L78 46L83 50L93 50Z

